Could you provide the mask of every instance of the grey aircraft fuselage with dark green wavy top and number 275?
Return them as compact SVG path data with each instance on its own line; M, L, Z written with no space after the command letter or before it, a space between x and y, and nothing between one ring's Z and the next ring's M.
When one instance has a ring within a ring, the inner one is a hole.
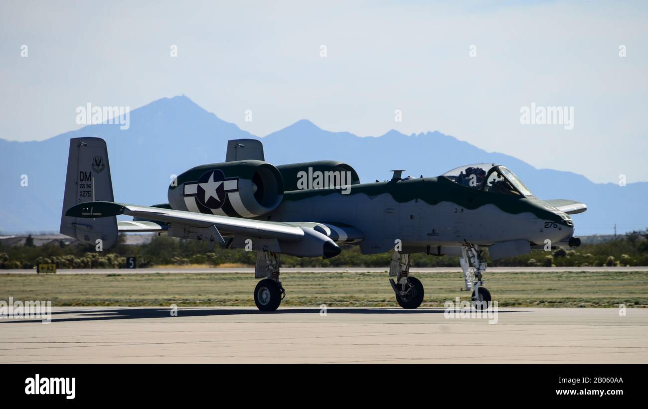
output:
M538 245L572 237L571 219L535 197L502 195L459 186L443 177L295 190L259 217L272 221L347 223L362 230L365 254L405 246L492 245L524 239Z

